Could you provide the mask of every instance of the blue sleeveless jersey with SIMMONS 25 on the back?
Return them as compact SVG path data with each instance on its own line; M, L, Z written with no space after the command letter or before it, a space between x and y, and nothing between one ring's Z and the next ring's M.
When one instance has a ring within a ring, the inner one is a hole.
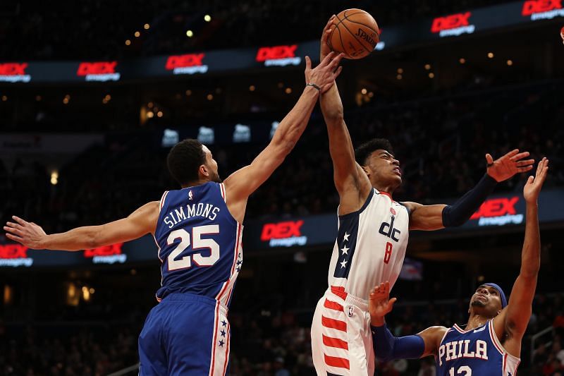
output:
M222 183L166 191L154 235L162 275L157 300L193 293L228 307L243 262L242 235Z

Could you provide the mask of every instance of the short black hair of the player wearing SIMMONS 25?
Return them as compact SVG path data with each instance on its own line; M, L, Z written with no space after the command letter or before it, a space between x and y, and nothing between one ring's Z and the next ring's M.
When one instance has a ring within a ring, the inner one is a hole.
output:
M174 145L166 157L168 172L184 186L198 180L198 169L206 162L202 142L187 138Z

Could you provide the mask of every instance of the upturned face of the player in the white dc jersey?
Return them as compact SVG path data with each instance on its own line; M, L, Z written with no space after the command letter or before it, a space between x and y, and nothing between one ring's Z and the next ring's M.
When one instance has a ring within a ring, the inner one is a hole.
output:
M400 161L384 149L375 150L368 158L366 171L372 186L391 186L393 189L401 185Z

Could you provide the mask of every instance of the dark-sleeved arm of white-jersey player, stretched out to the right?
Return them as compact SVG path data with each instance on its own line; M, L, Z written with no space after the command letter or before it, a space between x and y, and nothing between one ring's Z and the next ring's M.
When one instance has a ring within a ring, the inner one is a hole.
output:
M411 213L410 229L438 230L464 224L494 190L496 183L533 168L534 159L525 159L527 157L529 152L519 152L518 149L508 152L495 161L490 154L486 154L486 174L472 190L452 205L421 205L417 202L404 202Z

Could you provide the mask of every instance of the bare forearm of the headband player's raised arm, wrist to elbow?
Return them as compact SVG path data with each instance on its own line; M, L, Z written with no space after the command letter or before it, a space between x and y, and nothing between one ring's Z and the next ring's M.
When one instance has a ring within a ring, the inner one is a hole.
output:
M539 207L537 202L527 202L525 242L521 253L520 277L536 278L541 266L541 235L539 233Z

